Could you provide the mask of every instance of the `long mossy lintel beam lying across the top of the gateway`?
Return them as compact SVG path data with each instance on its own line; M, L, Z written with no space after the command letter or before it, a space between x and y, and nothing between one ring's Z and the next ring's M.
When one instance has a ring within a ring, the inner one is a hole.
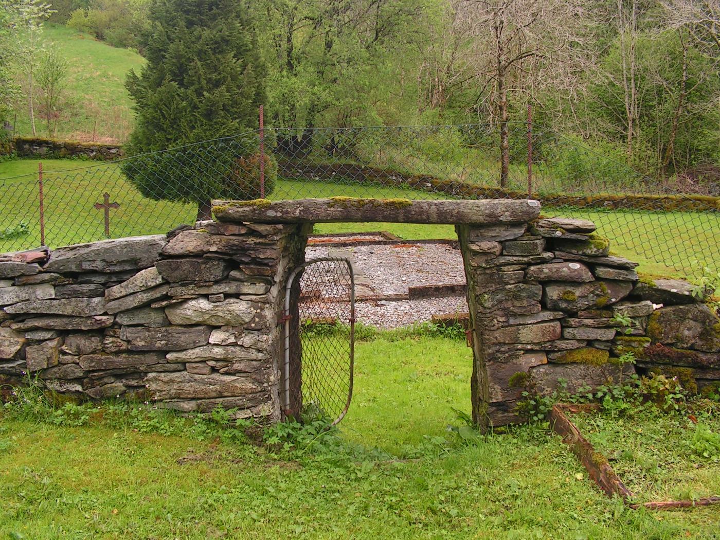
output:
M525 223L540 215L534 200L297 199L213 201L217 220L259 223Z

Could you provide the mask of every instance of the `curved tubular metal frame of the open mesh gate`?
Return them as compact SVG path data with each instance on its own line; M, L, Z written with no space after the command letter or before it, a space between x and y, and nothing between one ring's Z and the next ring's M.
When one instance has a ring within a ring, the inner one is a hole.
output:
M343 262L347 265L348 271L350 274L350 320L348 321L350 323L350 381L349 381L349 387L348 387L348 398L345 402L345 407L343 408L343 411L341 414L333 420L333 423L330 424L330 426L335 426L337 423L339 423L343 418L345 418L345 415L348 412L348 408L350 408L350 402L353 399L353 382L354 382L354 373L355 373L355 269L353 268L353 264L350 261L350 259L346 257L318 257L313 258L310 261L305 261L304 263L300 264L300 266L297 266L288 276L287 278L287 284L285 284L285 305L284 305L284 312L283 312L283 320L285 323L284 333L285 333L285 352L284 352L284 369L283 369L283 377L284 377L284 396L283 396L283 406L284 410L289 410L290 408L290 324L292 323L292 315L290 314L290 307L291 307L291 297L292 297L292 285L295 282L295 279L297 278L297 275L300 274L303 270L307 268L307 266L310 266L315 263L320 263L324 261L337 261L337 262ZM300 285L300 283L298 283ZM300 299L300 294L298 294L298 300ZM297 320L298 325L298 339L300 339L300 318ZM302 351L300 353L300 366L302 366ZM300 379L300 392L302 393L302 379Z

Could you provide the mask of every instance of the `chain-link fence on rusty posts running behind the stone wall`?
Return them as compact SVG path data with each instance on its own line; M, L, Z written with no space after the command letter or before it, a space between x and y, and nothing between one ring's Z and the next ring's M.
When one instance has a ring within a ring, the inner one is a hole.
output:
M52 161L42 175L0 180L0 252L165 233L209 217L214 198L529 194L545 215L595 221L613 251L651 274L718 269L720 186L659 181L606 155L609 147L537 125L505 132L481 124L266 128L62 171L47 170L58 167Z

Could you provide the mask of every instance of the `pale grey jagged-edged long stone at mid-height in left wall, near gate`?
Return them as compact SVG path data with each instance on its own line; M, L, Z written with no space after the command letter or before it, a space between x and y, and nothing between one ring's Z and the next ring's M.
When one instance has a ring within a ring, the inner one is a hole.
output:
M225 302L194 298L166 307L165 313L174 325L242 326L261 315L262 310L253 302L236 298L228 298Z

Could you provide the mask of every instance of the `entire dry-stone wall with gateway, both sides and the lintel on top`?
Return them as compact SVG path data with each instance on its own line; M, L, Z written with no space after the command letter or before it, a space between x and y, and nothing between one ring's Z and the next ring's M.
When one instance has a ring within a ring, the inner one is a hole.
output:
M261 199L213 210L217 221L168 235L0 255L0 382L30 374L78 399L281 420L283 292L312 223L396 221L456 225L480 426L521 420L523 390L551 392L559 379L571 392L634 369L688 390L720 384L720 320L701 292L639 279L592 222L540 217L536 201ZM626 352L636 366L618 361Z

